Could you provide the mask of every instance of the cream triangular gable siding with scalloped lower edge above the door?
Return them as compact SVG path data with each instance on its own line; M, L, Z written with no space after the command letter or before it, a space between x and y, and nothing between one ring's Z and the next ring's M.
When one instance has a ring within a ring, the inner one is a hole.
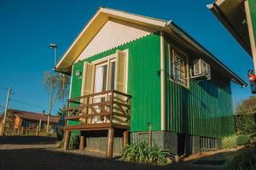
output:
M124 20L110 19L96 34L96 37L91 40L89 45L84 48L84 51L76 61L116 48L140 37L148 36L153 32L153 29L146 26L140 26Z

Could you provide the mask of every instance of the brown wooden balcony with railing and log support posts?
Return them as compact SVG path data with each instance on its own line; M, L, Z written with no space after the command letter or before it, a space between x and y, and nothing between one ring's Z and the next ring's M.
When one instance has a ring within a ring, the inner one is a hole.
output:
M123 130L124 145L128 144L130 128L131 95L108 90L102 93L84 95L67 100L64 150L70 139L71 131L108 130L107 153L113 156L114 130ZM67 121L77 121L68 125ZM84 149L85 136L81 134L79 147Z

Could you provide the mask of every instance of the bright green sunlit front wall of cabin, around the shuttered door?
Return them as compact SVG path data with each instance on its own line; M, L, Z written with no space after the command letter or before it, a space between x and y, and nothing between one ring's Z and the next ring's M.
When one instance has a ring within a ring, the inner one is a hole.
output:
M86 61L94 61L114 54L116 49L129 49L128 94L131 99L131 131L147 131L148 122L153 130L160 130L160 37L151 34L118 48L96 54ZM83 71L83 63L73 66ZM73 76L71 97L80 95L82 80ZM74 123L74 122L72 122ZM71 124L71 123L70 123Z

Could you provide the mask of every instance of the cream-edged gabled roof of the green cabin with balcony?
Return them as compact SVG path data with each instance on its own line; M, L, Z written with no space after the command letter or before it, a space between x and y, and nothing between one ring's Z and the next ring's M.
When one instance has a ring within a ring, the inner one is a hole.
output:
M74 61L79 57L85 47L90 41L96 36L96 33L101 30L102 26L109 20L109 18L125 20L131 23L135 23L142 26L148 26L158 31L164 31L167 34L175 35L176 37L182 38L183 41L204 54L207 61L212 65L218 66L218 70L223 72L226 77L230 77L233 82L240 84L241 86L247 86L240 77L221 63L215 58L206 48L203 48L200 43L196 42L195 39L190 37L185 31L179 28L172 20L159 20L150 17L146 17L138 14L131 14L125 11L120 11L112 8L99 8L96 14L90 19L83 31L80 32L79 36L75 39L73 44L67 49L67 52L63 55L61 60L55 67L55 71L64 72L67 74L71 73L71 68Z

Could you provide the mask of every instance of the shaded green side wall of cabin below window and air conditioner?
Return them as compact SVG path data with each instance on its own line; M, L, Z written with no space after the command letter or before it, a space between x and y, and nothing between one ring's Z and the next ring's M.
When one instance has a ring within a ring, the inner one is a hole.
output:
M167 42L165 49L166 130L213 138L234 133L230 81L212 70L211 81L190 79L189 89L183 88L169 81ZM192 61L189 55L189 65Z

